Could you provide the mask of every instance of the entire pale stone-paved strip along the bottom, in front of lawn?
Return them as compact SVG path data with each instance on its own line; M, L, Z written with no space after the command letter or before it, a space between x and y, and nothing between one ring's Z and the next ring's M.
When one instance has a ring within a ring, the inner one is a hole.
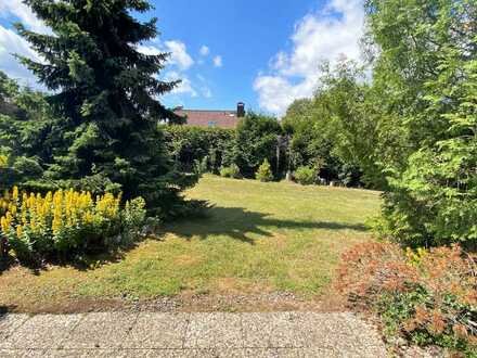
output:
M0 357L386 357L350 312L0 316Z

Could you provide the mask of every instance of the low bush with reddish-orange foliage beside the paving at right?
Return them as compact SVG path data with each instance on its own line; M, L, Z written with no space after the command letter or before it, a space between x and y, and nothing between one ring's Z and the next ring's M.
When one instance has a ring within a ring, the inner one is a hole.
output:
M457 245L404 252L365 243L344 254L337 287L354 307L377 312L387 334L470 354L477 349L476 265Z

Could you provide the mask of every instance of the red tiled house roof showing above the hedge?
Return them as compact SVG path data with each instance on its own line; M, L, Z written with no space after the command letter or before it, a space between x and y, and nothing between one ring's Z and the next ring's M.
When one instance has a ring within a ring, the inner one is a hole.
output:
M176 110L175 113L186 116L186 126L235 128L241 119L235 111Z

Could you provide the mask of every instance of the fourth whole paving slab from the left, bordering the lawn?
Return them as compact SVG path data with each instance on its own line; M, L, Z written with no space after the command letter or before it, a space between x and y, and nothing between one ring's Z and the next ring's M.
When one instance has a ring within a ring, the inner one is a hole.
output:
M241 315L191 315L184 340L185 348L243 348Z

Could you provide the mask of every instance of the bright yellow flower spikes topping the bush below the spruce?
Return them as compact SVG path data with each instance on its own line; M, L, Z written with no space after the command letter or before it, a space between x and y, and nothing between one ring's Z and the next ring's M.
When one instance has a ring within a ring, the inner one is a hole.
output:
M3 215L0 218L1 231L5 236L52 235L63 231L78 231L82 228L102 222L114 221L119 217L120 195L104 194L92 199L89 192L59 190L46 195L18 193L14 187L0 197Z

